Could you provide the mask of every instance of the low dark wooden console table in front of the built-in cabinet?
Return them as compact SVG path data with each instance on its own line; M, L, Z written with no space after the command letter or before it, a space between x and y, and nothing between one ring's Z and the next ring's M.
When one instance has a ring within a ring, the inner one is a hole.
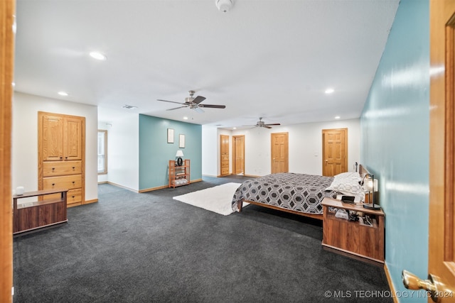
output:
M66 197L68 189L48 189L25 192L13 196L13 234L32 231L68 221ZM21 198L40 197L47 194L60 194L58 199L44 199L37 202L17 202Z

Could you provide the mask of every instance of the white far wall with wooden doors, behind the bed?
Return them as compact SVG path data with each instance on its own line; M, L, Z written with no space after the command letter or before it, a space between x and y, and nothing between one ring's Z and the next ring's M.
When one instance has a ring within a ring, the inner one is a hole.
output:
M213 131L203 132L203 150L206 145L210 145L208 147L210 153L216 153L217 157L216 167L212 166L215 162L213 159L205 162L203 175L213 175L215 168L219 175L220 134L245 135L245 175L268 175L271 171L270 133L282 132L289 133L289 172L322 175L322 130L331 128L348 128L348 170L354 170L354 163L360 161L360 119L274 126L271 129L250 128L236 131L219 129L216 135ZM213 136L217 136L216 140Z

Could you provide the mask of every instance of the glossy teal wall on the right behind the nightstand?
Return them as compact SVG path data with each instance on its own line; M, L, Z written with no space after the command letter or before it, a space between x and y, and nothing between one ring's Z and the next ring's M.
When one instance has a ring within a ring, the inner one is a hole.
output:
M429 1L402 0L360 117L360 158L378 177L385 261L427 277L429 211ZM423 291L422 291L423 292ZM427 302L401 297L400 302Z

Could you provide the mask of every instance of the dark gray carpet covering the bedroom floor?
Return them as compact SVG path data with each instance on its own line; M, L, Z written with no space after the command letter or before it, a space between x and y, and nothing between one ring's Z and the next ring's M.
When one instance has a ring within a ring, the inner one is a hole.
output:
M68 224L14 238L14 302L392 302L356 296L389 291L384 270L323 250L320 221L172 199L245 179L144 194L100 184Z

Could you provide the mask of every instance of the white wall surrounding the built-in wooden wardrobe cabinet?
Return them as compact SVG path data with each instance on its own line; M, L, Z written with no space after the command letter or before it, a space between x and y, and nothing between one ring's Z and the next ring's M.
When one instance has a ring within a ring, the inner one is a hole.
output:
M14 92L11 182L38 190L38 111L85 117L85 200L98 199L97 107Z

